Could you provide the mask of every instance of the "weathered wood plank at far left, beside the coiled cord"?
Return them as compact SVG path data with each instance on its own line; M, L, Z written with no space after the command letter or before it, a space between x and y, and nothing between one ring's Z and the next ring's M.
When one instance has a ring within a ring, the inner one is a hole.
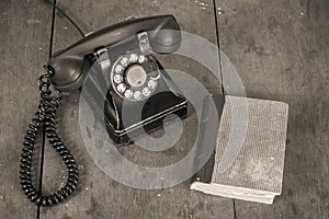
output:
M37 78L48 58L52 9L38 0L1 1L0 9L0 214L36 218L36 206L21 192L19 166L23 136L38 102ZM34 169L37 173L38 166Z

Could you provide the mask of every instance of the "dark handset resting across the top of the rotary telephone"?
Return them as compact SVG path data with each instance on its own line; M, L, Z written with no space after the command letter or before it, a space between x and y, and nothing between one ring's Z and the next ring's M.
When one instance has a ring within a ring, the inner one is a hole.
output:
M150 33L149 43L155 53L173 53L180 47L180 26L173 15L128 20L94 32L68 48L55 53L48 60L49 68L55 72L50 78L52 83L60 91L80 88L86 79L82 72L87 55L140 32Z

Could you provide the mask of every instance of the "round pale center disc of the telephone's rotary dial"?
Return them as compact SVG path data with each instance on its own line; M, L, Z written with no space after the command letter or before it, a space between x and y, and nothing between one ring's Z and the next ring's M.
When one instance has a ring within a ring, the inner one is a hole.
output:
M145 69L141 66L134 65L126 71L126 81L135 88L144 85L147 79Z

